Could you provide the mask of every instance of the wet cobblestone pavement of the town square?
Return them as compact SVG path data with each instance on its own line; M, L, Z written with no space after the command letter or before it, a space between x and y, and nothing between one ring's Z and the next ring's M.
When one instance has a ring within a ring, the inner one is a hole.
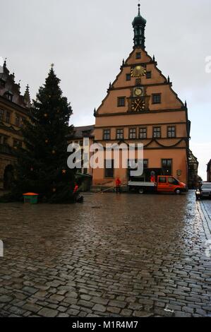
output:
M210 316L211 201L1 204L0 316Z

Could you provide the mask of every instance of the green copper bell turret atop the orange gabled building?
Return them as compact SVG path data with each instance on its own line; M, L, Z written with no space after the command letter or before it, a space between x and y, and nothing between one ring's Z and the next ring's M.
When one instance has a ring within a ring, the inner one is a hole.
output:
M145 26L147 21L145 18L140 16L140 0L138 3L138 16L135 16L133 20L133 30L134 30L134 47L143 47L145 49Z

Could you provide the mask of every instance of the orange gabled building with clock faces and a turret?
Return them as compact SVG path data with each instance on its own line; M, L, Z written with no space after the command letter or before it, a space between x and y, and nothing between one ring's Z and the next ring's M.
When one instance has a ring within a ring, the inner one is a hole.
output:
M140 15L133 20L134 46L107 96L95 111L95 142L143 143L144 173L142 180L157 174L171 174L188 184L188 151L191 122L186 102L172 89L172 83L157 67L155 57L145 50L146 20ZM136 155L137 158L137 155ZM113 159L113 157L111 157ZM128 170L93 170L94 186L113 186L120 177L128 182Z

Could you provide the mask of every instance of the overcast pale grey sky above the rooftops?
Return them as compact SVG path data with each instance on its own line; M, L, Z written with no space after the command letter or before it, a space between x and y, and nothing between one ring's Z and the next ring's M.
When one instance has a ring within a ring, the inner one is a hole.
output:
M73 107L75 126L94 124L95 107L133 48L138 0L0 0L0 57L35 97L50 64ZM191 148L205 179L211 158L211 0L143 0L146 50L170 76L192 121Z

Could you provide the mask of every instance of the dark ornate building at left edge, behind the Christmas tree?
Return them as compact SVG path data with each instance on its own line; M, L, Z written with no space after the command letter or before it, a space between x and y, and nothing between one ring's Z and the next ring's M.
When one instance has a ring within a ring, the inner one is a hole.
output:
M20 94L20 83L15 83L15 75L4 61L0 72L0 189L9 189L16 162L14 151L23 145L20 129L24 119L28 119L29 107L29 87L24 96Z

